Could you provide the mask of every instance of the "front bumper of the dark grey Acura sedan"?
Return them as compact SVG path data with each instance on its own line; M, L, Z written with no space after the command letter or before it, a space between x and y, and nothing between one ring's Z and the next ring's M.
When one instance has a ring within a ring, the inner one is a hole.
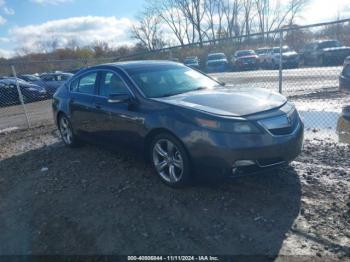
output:
M203 131L200 143L189 151L198 174L232 175L236 169L255 171L289 164L300 154L303 140L304 125L300 121L292 134L283 136ZM247 160L255 165L236 165Z

